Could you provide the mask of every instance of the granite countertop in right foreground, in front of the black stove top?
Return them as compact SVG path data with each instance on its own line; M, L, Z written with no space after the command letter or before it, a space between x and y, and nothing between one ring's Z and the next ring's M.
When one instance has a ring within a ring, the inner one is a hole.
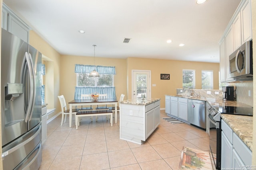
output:
M245 145L252 150L252 116L221 114L222 119L238 135Z

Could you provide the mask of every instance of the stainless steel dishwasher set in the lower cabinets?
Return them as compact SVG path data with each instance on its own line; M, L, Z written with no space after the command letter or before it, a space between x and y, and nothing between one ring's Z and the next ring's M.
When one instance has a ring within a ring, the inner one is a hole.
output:
M188 122L206 130L205 101L188 99Z

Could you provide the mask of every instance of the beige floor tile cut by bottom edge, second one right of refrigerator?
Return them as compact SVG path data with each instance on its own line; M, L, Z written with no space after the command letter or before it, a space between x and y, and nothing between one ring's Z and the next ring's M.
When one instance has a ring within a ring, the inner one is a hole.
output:
M79 170L82 156L54 159L49 170Z

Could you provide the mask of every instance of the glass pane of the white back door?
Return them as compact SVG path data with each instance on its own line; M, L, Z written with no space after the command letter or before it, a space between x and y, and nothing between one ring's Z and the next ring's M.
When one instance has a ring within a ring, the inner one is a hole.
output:
M147 74L137 74L137 98L147 98Z

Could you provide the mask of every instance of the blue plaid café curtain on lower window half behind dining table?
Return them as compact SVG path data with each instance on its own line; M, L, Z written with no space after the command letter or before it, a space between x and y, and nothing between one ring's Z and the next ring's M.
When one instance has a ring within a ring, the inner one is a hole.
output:
M115 87L78 87L75 89L74 99L81 99L81 94L107 94L107 98L116 99L116 88Z

